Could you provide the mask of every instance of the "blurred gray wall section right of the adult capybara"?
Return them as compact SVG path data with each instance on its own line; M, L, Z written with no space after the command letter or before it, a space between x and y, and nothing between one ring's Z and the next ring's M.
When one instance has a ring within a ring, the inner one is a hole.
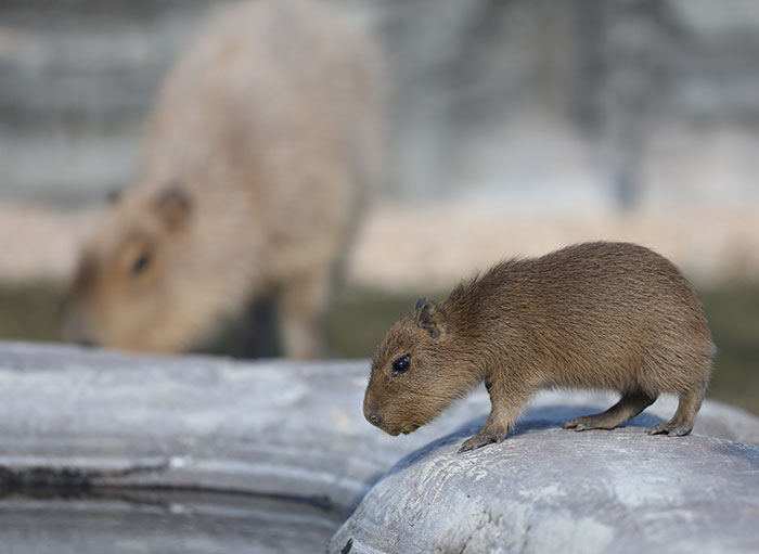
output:
M384 12L404 194L580 210L759 202L759 3L396 0Z

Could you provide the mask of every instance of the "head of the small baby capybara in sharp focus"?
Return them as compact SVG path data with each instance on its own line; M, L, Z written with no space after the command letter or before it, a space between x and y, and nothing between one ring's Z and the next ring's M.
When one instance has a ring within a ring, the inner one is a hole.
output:
M422 298L385 335L363 400L372 425L390 435L411 433L468 391L448 323L441 306Z

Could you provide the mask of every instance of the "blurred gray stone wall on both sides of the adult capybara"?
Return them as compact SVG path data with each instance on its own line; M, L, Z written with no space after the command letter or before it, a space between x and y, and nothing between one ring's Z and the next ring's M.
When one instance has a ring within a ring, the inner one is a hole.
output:
M752 0L331 1L386 51L390 196L759 202ZM216 3L0 3L0 199L128 184L158 82Z

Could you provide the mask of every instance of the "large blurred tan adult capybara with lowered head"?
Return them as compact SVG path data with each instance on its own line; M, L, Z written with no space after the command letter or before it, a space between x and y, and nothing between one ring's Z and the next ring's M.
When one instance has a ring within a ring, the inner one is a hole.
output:
M274 294L285 353L323 355L334 269L376 169L375 72L371 44L322 3L226 8L166 78L62 335L176 351Z

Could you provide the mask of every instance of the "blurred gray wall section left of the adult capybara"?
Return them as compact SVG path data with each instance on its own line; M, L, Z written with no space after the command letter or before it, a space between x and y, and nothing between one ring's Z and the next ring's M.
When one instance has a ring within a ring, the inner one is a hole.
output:
M208 5L0 3L0 197L76 204L127 184L160 78Z

